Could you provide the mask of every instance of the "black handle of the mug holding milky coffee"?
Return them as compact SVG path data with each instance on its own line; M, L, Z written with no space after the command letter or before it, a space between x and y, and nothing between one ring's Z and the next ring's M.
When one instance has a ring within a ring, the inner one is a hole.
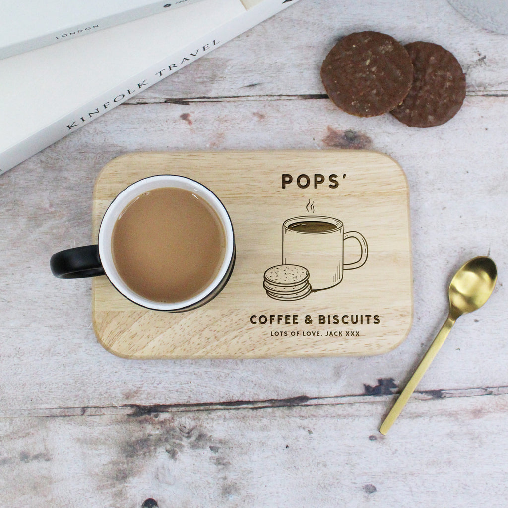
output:
M51 272L59 279L79 279L105 275L99 257L99 245L83 245L60 250L51 256Z

